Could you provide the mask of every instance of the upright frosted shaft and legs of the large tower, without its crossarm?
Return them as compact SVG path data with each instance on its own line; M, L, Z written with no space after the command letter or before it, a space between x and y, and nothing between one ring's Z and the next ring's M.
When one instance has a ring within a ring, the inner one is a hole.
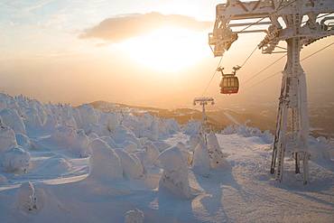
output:
M285 22L293 24L294 32L298 36L298 29L302 22L300 15L289 15ZM302 159L303 182L307 184L310 156L308 151L309 113L306 77L300 60L302 44L299 37L293 37L286 42L287 62L283 70L271 172L274 173L277 163L275 179L282 181L284 154L289 152L294 155L296 173L300 172L300 159Z

